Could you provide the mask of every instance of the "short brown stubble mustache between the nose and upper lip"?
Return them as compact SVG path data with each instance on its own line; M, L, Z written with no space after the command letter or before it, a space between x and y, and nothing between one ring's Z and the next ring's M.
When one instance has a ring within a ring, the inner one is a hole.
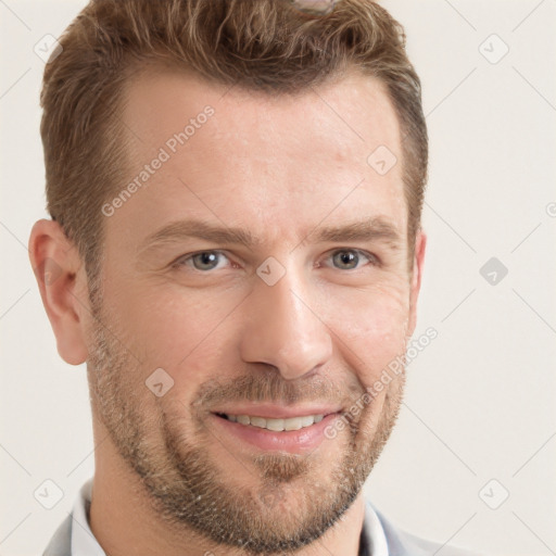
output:
M285 380L274 371L245 375L222 381L212 379L203 382L192 405L200 409L211 409L224 402L271 402L293 405L302 402L332 402L343 406L358 399L365 389L355 377L341 386L325 375L309 378Z

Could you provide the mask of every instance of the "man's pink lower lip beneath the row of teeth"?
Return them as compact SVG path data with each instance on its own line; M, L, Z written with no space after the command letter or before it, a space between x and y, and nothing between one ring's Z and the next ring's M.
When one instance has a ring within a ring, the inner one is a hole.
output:
M226 438L232 437L258 450L282 451L299 454L315 450L325 439L325 429L338 417L338 413L327 415L320 422L299 430L275 432L252 425L241 425L212 414L217 427L222 427Z

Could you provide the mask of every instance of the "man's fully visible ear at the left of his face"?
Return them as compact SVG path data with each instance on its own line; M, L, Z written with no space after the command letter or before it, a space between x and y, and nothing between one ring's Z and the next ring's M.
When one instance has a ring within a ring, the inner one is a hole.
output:
M58 353L71 365L87 359L84 319L89 308L85 269L60 224L38 220L29 238L29 258L42 304L56 337Z

